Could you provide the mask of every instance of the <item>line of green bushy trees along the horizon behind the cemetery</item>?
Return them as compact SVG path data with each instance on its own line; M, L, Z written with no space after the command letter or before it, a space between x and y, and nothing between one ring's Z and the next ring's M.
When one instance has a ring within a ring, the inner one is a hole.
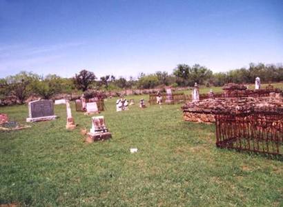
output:
M17 97L23 103L30 95L39 95L49 99L59 93L85 92L86 90L127 90L162 88L164 86L188 87L194 83L204 86L224 86L225 83L254 83L255 77L260 77L264 83L283 81L282 65L266 65L250 63L248 68L238 68L228 72L215 72L195 64L179 64L169 74L157 71L152 74L141 73L137 78L115 77L106 75L97 79L94 72L81 70L72 78L46 75L45 77L33 72L19 72L0 79L0 99L8 96Z

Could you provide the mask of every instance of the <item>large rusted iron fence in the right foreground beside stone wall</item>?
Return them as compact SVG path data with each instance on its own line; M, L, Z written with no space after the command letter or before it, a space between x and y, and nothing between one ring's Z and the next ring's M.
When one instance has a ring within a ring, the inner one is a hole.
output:
M215 120L217 147L283 155L283 111L217 114Z

